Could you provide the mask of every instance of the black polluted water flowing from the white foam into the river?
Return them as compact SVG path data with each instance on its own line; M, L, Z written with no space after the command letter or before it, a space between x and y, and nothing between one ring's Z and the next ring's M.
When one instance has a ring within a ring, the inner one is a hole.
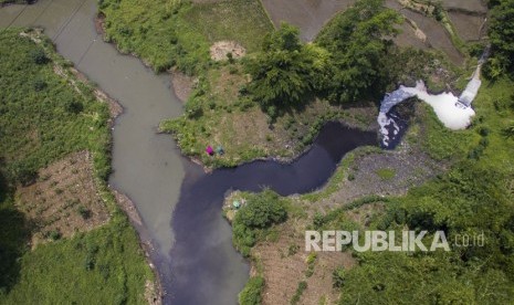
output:
M228 191L271 188L287 196L316 190L329 179L346 152L376 141L376 133L329 123L313 147L292 164L254 161L212 173L203 173L198 166L189 168L171 221L172 278L165 303L237 304L249 266L235 253L230 225L221 215Z

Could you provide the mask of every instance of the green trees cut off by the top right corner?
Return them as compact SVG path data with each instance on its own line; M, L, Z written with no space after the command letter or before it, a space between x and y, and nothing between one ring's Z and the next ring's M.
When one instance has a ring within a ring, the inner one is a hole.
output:
M492 56L485 65L485 74L491 78L501 77L514 71L514 1L500 0L490 3L491 24L489 38Z

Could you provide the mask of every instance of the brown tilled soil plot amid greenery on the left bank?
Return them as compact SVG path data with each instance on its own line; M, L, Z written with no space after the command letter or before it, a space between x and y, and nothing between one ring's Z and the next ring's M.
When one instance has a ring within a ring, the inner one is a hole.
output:
M90 231L109 220L96 188L88 151L73 154L41 169L38 182L17 190L15 204L31 223L33 248Z

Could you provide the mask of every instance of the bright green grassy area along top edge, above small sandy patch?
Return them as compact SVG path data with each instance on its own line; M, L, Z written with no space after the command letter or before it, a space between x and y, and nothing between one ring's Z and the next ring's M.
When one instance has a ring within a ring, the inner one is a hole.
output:
M200 74L212 64L216 41L241 43L248 52L260 48L273 28L258 0L191 3L188 1L102 0L105 32L122 52L134 53L157 72L176 66Z

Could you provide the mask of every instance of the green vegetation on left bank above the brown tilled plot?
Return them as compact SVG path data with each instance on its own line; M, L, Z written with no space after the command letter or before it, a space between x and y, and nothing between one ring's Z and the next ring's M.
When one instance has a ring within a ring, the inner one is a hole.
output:
M65 155L88 149L102 178L109 172L108 106L97 103L91 88L83 95L49 64L36 64L33 50L50 54L50 42L35 45L29 38L19 36L20 30L0 35L0 165L9 182L28 185L35 179L38 169ZM21 73L22 71L22 73ZM28 80L40 80L40 90ZM44 81L43 81L44 80Z

